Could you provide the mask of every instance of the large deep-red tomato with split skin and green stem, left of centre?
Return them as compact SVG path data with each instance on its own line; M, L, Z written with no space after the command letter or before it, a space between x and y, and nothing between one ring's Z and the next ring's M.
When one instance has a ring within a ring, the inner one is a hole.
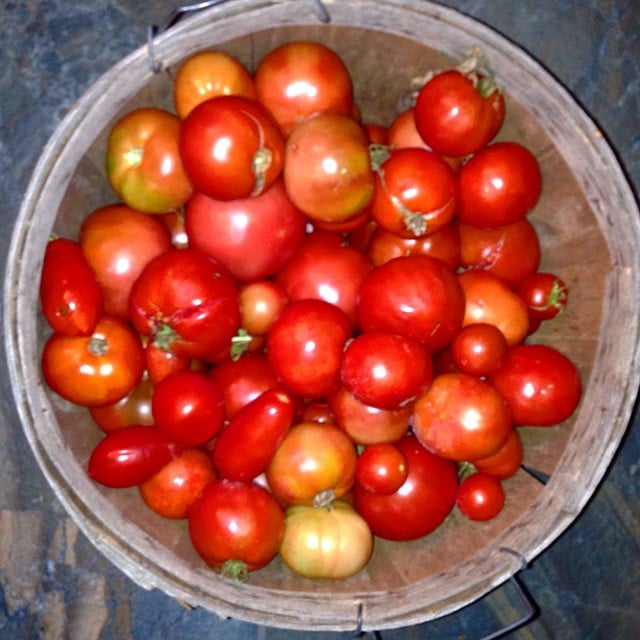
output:
M131 289L129 315L151 342L192 358L213 357L240 326L238 290L227 269L197 249L152 260Z

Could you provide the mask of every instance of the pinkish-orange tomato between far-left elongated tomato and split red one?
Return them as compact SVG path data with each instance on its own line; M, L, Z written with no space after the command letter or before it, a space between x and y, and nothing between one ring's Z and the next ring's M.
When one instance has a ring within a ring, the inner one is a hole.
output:
M133 283L172 244L159 218L116 204L100 207L84 219L80 246L102 287L105 312L127 318Z

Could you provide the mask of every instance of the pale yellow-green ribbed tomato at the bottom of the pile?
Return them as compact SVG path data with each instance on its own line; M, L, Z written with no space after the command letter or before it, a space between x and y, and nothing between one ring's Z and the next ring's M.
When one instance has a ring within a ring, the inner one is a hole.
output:
M280 556L307 578L348 578L360 571L373 551L369 525L351 505L295 505L286 512Z

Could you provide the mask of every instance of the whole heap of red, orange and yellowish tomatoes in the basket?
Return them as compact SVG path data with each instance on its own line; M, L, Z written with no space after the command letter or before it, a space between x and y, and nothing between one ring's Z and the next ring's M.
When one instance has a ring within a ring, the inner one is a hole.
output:
M386 124L317 42L253 73L199 52L172 82L175 113L110 128L117 202L44 256L44 377L104 432L89 476L188 519L225 570L347 577L374 536L497 515L518 427L581 386L527 340L567 287L539 271L540 168L494 141L491 78L434 72Z

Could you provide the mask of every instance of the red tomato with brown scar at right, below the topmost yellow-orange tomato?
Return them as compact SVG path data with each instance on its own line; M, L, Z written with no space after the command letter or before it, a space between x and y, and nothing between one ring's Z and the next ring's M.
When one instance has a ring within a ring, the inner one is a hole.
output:
M180 156L197 191L218 200L250 198L280 176L284 139L257 100L217 96L183 120Z

